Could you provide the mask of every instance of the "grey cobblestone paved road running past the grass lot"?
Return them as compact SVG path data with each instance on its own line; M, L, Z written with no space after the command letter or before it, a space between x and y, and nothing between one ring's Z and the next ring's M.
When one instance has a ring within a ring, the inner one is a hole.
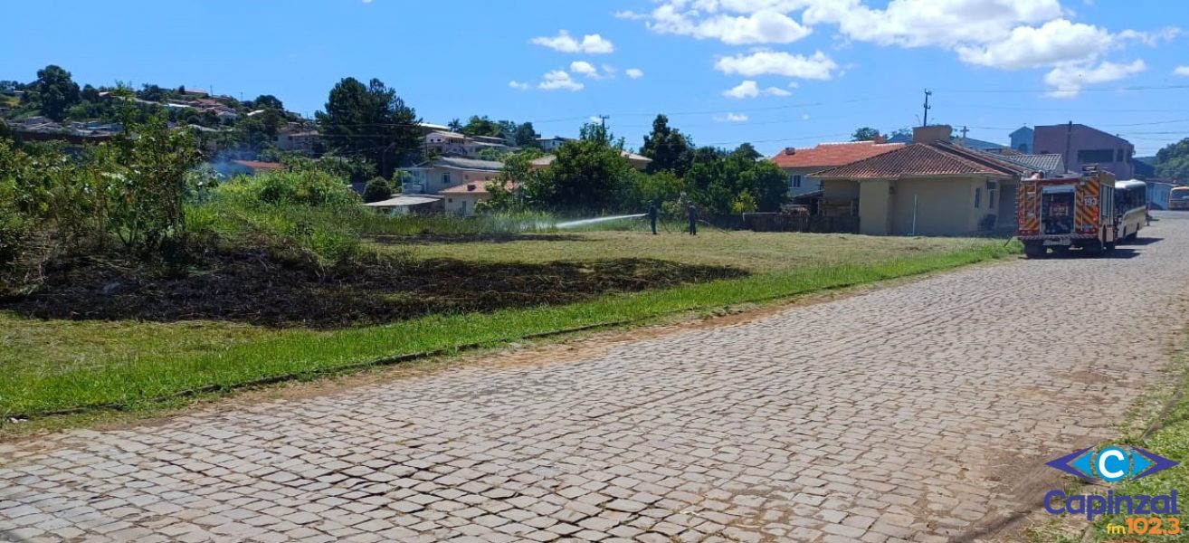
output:
M1183 215L1189 216L1189 215ZM0 529L86 541L946 541L1158 380L1189 219L585 360L0 446Z

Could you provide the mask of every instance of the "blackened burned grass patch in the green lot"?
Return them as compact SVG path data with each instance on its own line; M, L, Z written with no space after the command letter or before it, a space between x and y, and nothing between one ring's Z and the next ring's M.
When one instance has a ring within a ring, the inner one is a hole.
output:
M370 259L312 270L263 251L213 253L201 266L166 274L83 258L51 263L37 290L0 299L0 310L38 318L338 329L440 312L568 304L747 274L644 258L543 264Z

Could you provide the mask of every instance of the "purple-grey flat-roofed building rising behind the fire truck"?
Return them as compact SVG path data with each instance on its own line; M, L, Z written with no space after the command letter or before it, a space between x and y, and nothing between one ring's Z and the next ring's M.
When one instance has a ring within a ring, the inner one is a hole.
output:
M1065 168L1082 171L1083 166L1097 164L1119 179L1135 176L1132 157L1135 146L1118 135L1097 128L1069 122L1036 127L1036 151L1039 154L1059 153Z

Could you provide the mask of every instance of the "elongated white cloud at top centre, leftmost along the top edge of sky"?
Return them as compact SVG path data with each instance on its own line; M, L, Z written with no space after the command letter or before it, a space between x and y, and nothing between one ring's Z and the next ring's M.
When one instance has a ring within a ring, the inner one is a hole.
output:
M749 15L715 15L694 21L688 13L665 10L662 6L653 15L653 21L648 24L653 32L718 39L731 45L786 44L812 33L812 30L791 17L770 10Z

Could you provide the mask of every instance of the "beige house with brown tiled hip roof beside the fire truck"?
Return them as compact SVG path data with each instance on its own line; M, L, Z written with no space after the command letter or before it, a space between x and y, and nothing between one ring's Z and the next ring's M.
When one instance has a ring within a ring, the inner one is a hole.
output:
M863 234L965 235L1014 226L1026 168L949 143L949 126L917 128L913 144L814 173L823 197L850 202Z

